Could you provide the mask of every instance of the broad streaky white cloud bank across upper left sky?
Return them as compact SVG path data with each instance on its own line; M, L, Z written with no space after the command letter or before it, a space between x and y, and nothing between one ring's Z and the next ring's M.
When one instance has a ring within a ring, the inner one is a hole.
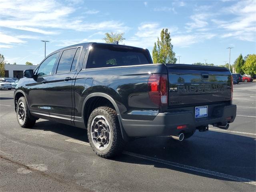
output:
M29 6L28 6L29 5ZM0 2L0 26L26 30L41 34L58 34L60 29L77 31L114 30L121 32L129 28L122 22L110 20L87 22L83 17L74 17L72 14L77 6L64 6L56 0L22 0ZM97 10L88 10L87 14L96 14Z

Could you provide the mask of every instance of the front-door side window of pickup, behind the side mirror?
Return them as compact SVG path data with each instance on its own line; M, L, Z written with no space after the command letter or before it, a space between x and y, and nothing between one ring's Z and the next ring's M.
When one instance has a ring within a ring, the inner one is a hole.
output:
M38 76L43 76L43 75L51 75L52 74L52 68L58 59L60 52L52 54L44 62L41 63L37 70L37 75Z

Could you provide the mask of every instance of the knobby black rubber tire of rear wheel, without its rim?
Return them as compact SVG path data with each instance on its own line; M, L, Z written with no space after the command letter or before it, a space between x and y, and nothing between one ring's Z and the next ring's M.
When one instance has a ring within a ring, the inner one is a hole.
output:
M96 146L94 146L93 138L91 135L91 132L92 132L91 129L93 124L92 121L97 116L103 116L108 121L109 128L110 128L111 138L110 138L108 147L105 150L100 150L96 148ZM103 158L111 158L120 154L124 148L125 141L122 138L122 133L121 133L116 110L106 106L102 106L94 109L88 119L87 136L92 149L98 156Z

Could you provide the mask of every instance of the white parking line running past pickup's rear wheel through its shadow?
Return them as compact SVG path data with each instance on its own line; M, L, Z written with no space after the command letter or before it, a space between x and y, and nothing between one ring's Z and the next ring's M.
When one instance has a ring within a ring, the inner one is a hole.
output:
M67 139L65 141L90 146L90 144L88 142L83 142L83 141L79 141L79 140ZM186 170L192 170L194 172L200 172L200 173L213 175L213 176L218 176L218 177L221 177L221 178L226 178L226 179L230 179L230 180L234 180L234 181L238 181L238 182L244 182L244 183L256 185L255 181L249 180L249 179L246 179L246 178L241 178L241 177L236 177L236 176L223 174L223 173L219 173L219 172L209 171L209 170L206 170L206 169L192 167L192 166L179 164L179 163L175 163L175 162L171 162L171 161L166 161L166 160L162 160L162 159L158 159L158 158L154 158L154 157L149 157L149 156L145 156L145 155L140 155L140 154L136 154L136 153L132 153L132 152L128 152L128 151L124 151L122 153L126 154L126 155L129 155L129 156L133 156L133 157L137 157L137 158L141 158L141 159L146 159L146 160L150 160L150 161L157 162L157 163L162 163L162 164L166 164L166 165L170 165L170 166L174 166L174 167L178 167L178 168L182 168L182 169L186 169Z

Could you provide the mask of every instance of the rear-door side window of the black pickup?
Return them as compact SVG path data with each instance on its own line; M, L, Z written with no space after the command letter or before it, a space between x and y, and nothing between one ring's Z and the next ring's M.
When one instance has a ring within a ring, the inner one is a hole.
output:
M77 48L72 48L68 50L64 50L62 53L62 56L60 58L60 62L57 68L57 74L58 73L66 73L70 72L72 62L74 60L74 56L76 54Z

